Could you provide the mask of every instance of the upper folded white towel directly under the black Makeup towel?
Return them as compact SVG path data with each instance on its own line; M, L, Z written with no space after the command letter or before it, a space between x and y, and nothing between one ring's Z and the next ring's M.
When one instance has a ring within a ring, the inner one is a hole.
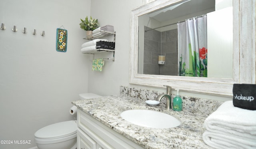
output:
M226 101L205 119L204 125L207 130L229 129L256 135L256 110L234 107L233 101Z

